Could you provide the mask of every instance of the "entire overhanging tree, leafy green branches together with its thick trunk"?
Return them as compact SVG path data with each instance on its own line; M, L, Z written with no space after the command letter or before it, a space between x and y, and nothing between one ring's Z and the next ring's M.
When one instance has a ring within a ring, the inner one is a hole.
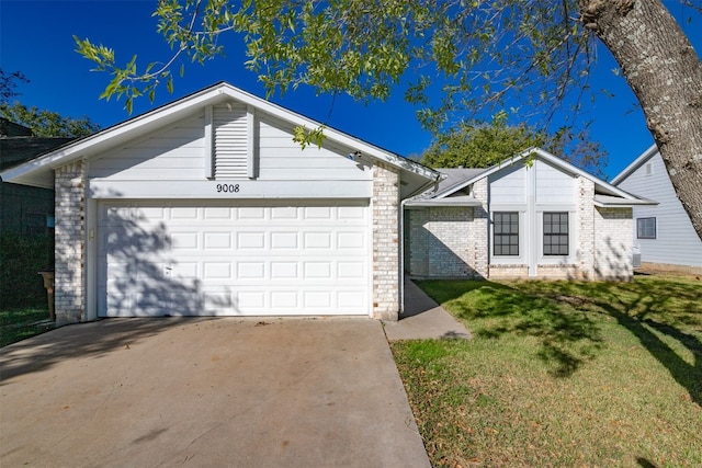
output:
M679 3L700 18L700 0ZM181 58L224 54L218 38L234 31L269 93L308 84L385 100L403 85L434 134L508 102L519 103L510 113L520 122L541 128L563 103L577 115L597 93L588 70L599 39L636 94L702 238L702 62L663 0L159 0L155 16L173 49L163 62L141 67L134 56L120 66L111 48L76 37L78 52L112 76L102 96L125 96L129 111L162 81L172 90Z

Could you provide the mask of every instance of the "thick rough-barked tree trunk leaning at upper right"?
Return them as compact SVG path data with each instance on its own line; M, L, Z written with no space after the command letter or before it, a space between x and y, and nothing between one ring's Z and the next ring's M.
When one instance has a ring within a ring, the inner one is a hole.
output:
M659 0L578 0L638 98L670 180L702 239L702 62Z

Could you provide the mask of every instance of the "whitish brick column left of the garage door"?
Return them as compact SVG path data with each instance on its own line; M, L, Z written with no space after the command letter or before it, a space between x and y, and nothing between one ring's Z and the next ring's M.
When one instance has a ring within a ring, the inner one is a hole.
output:
M55 171L56 324L84 319L86 171L82 161Z

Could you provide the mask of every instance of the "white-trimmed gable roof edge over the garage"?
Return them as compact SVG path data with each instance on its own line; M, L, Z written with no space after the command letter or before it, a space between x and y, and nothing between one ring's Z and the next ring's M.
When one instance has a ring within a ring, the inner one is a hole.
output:
M52 151L41 158L29 161L16 168L9 169L0 176L8 182L14 182L35 186L53 186L53 171L79 159L90 159L106 149L139 138L162 126L174 123L199 109L236 100L257 110L269 113L293 125L302 125L316 128L321 124L308 117L265 101L246 91L233 87L226 82L219 82L201 91L186 95L178 101L165 104L145 114L133 117L123 123L113 125L97 134L84 137L70 145ZM386 162L400 171L416 174L417 176L437 181L440 174L423 164L403 158L399 155L384 150L377 146L355 138L335 128L325 127L327 140L336 141L354 148L363 156Z

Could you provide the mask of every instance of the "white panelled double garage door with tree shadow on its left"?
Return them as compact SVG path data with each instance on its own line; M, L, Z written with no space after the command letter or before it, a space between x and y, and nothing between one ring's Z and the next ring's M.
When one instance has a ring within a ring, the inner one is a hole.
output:
M367 201L102 203L98 231L101 317L370 311Z

